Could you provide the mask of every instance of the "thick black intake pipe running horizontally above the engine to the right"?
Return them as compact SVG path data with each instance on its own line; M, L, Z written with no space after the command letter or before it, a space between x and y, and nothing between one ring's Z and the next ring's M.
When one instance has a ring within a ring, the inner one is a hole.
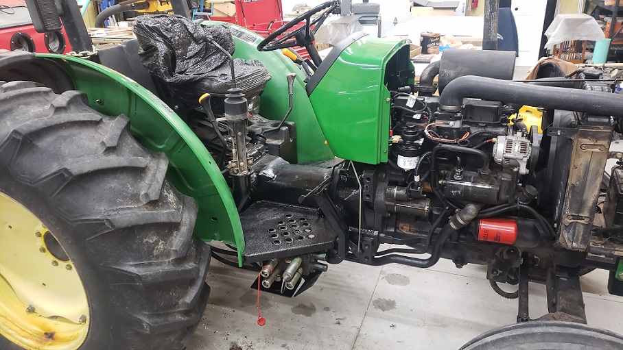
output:
M467 97L623 117L623 95L521 84L470 75L458 77L446 86L439 99L440 109L459 112L463 99Z

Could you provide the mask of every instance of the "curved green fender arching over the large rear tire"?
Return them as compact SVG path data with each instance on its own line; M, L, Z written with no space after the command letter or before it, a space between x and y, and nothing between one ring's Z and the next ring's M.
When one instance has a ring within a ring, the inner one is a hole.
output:
M169 157L167 179L198 203L196 236L235 245L242 264L244 236L233 197L210 153L188 125L152 92L110 68L67 55L37 56L61 64L93 109L111 116L125 114L143 147Z

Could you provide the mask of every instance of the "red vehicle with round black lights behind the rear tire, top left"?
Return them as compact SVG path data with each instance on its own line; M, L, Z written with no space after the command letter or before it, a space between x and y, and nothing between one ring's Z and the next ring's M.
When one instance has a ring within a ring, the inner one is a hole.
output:
M36 32L26 5L19 0L3 0L0 5L0 49L40 53L71 51L64 29L45 34Z

